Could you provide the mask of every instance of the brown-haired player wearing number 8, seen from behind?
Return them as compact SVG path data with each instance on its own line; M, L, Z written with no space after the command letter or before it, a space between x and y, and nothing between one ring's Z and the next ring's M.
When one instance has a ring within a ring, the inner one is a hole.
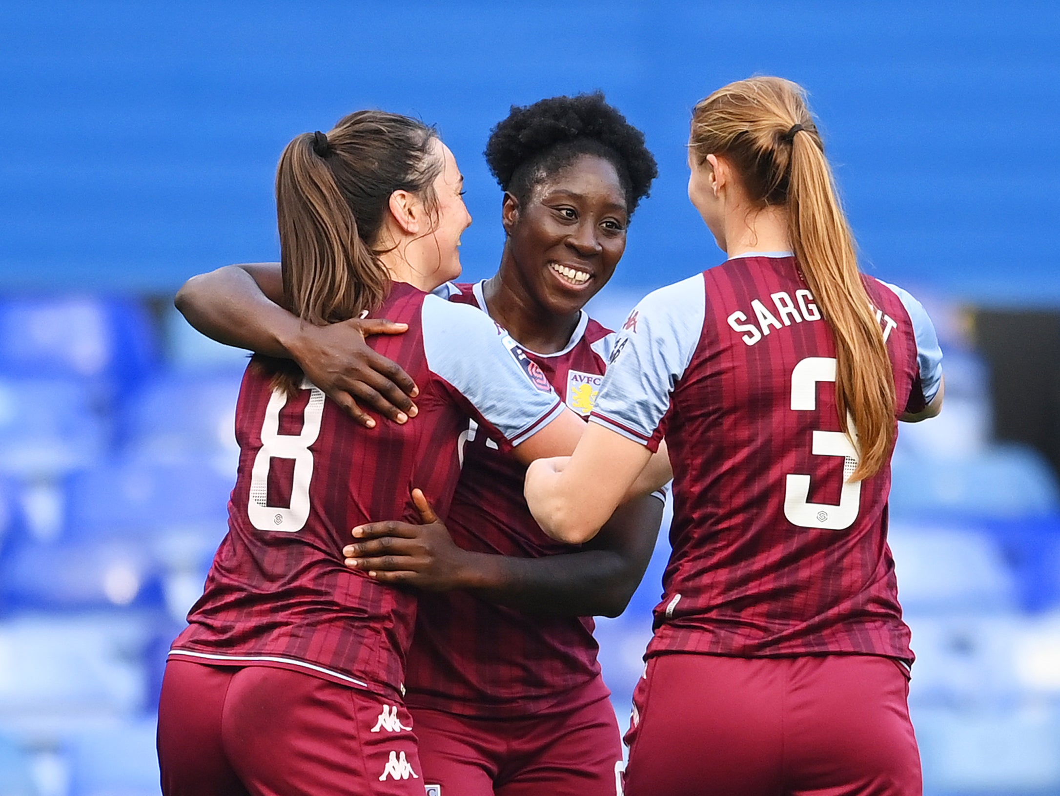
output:
M435 132L392 114L284 151L284 301L306 325L406 324L374 343L416 378L420 412L370 432L293 362L251 361L229 533L162 686L167 796L423 794L402 704L416 599L344 567L342 544L373 518L414 518L413 486L447 509L469 417L522 462L569 451L584 428L485 315L426 292L460 273L461 188Z

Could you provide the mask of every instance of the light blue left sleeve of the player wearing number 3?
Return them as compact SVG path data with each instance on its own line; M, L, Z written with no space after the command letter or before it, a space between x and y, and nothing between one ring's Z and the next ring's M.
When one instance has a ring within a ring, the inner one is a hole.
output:
M696 274L636 306L618 333L590 421L641 444L652 440L699 346L705 290Z

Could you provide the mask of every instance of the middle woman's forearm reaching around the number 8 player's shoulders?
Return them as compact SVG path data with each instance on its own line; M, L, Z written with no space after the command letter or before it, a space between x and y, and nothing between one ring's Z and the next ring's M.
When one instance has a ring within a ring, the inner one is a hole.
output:
M236 265L192 277L174 302L188 323L225 345L290 359L300 321L272 302Z

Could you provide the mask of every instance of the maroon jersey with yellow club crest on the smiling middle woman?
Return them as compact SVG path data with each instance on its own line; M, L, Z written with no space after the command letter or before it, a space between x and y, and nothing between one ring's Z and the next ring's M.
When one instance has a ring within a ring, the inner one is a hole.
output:
M478 284L460 284L452 300L481 309ZM584 312L562 351L527 354L567 405L587 415L614 333ZM473 422L446 526L465 550L538 557L576 549L549 539L523 497L526 467ZM424 595L408 654L410 706L480 716L576 709L564 695L600 673L590 617L528 616L464 591ZM606 691L586 694L599 698ZM584 702L584 700L583 700Z

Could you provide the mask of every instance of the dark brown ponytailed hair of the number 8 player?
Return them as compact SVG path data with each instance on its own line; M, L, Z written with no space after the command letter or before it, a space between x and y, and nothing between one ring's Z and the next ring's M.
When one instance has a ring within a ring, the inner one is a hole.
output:
M329 133L304 133L280 157L276 175L280 261L287 308L324 326L373 312L390 291L379 232L390 195L404 190L434 209L442 159L438 135L416 119L359 110ZM292 394L301 369L258 357L273 386Z

